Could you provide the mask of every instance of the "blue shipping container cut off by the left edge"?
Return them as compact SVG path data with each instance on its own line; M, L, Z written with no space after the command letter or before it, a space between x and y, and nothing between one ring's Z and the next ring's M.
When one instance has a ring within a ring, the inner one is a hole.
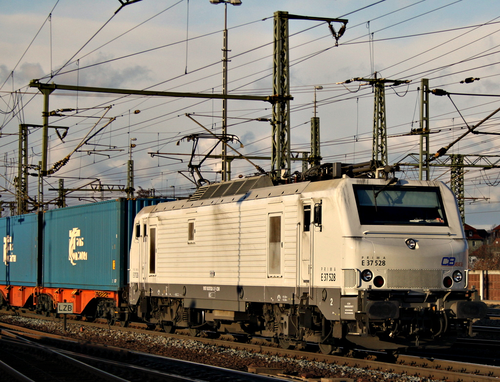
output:
M37 214L0 218L0 235L3 244L0 283L36 286L39 249Z

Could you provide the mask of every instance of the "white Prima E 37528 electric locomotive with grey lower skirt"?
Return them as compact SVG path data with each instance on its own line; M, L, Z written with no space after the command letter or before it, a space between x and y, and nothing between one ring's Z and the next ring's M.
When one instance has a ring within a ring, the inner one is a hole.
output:
M467 285L452 192L438 181L351 178L335 164L327 172L210 184L143 208L130 309L167 332L312 342L323 353L446 347L470 335L486 305Z

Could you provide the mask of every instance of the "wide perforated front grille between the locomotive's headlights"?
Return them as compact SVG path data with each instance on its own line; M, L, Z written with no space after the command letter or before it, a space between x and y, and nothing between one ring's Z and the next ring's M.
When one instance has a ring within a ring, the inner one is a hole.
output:
M439 269L387 269L387 288L437 289L442 288Z

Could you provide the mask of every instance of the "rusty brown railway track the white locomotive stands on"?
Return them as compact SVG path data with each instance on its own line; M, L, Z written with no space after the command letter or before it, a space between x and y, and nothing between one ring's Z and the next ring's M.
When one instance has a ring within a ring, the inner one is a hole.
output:
M32 315L29 315L32 316ZM39 318L39 317L37 317ZM54 321L57 319L49 318L48 320ZM102 324L95 323L82 323L79 325L107 327ZM465 363L460 361L438 360L429 358L427 353L420 357L400 355L397 357L396 362L387 363L382 362L380 354L373 354L367 359L348 358L338 356L326 356L319 353L310 353L304 351L290 351L278 348L272 348L262 344L241 344L236 342L213 340L208 338L192 338L180 335L166 335L159 332L151 332L136 328L114 328L116 330L133 331L135 333L143 333L155 336L173 337L178 339L196 340L204 344L211 344L215 346L246 350L249 352L263 353L265 355L275 355L279 357L291 357L298 360L307 360L310 362L323 362L327 364L341 365L347 367L363 368L371 371L378 371L384 373L401 374L408 376L419 376L435 380L446 381L462 381L462 382L485 382L485 381L498 381L500 378L500 368L495 366L485 366L478 364ZM129 352L129 351L128 351Z

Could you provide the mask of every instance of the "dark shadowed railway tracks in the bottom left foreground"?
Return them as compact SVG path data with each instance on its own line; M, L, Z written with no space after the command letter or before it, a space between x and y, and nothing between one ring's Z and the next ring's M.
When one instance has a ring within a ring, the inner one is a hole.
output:
M1 330L2 382L270 382L274 378L98 344Z

